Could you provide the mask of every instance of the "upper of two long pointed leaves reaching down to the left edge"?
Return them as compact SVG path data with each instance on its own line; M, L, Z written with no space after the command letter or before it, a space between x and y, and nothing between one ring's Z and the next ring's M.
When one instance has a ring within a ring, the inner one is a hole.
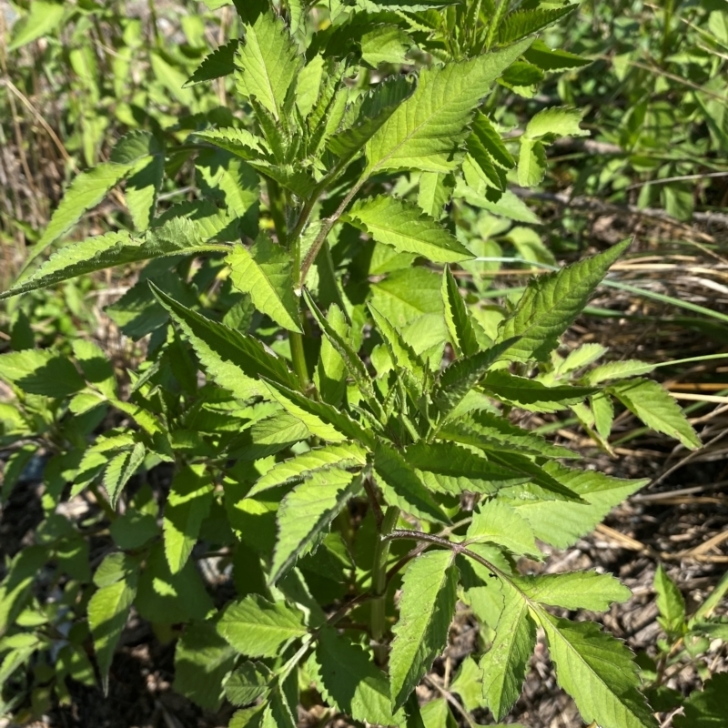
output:
M96 207L106 197L108 191L129 174L131 168L131 165L105 162L74 177L74 181L66 189L60 205L45 227L43 235L28 251L25 258L25 269L45 248L76 225L87 210Z

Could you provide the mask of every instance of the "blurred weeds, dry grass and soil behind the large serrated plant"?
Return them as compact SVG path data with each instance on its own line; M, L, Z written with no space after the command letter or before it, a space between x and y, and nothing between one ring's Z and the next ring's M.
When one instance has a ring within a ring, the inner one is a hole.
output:
M184 145L190 132L209 123L231 123L238 109L230 81L186 86L210 49L239 32L232 6L209 5L80 0L3 5L0 288L8 288L21 269L44 252L45 227L69 181L78 171L107 161L126 133L151 131L174 146ZM577 106L586 109L581 126L590 136L554 140L547 148L546 177L536 189L526 189L529 180L511 179L511 217L492 206L480 207L477 213L461 208L461 227L470 230L469 242L477 241L483 259L463 266L459 280L470 287L471 297L502 304L517 296L533 273L636 236L631 257L617 264L617 274L571 329L568 343L602 343L610 347L608 359L638 357L660 365L658 376L687 406L708 447L688 456L675 450L672 441L646 432L629 411L619 414L608 438L593 431L590 437L593 423L583 417L580 421L579 412L529 415L524 424L556 433L558 441L580 448L587 463L598 469L652 480L651 489L622 506L612 521L575 550L557 553L549 568L562 571L569 563L573 568L577 560L580 567L619 571L628 581L636 596L613 609L605 622L642 651L643 679L654 688L653 701L664 701L663 725L670 725L676 704L670 691L689 694L726 664L723 642L703 638L686 645L683 636L690 615L695 618L707 594L713 594L711 612L722 613L720 599L728 588L724 579L719 582L721 564L728 561L722 551L728 507L720 440L728 404L727 369L720 359L664 365L720 353L725 346L728 9L723 0L593 0L541 38L589 62L564 56L564 68L554 67L553 73L511 78L490 96L488 113L504 136L515 137L541 108ZM194 198L197 187L204 185L184 147L177 157L167 158L164 172L161 209ZM399 191L406 194L405 189ZM270 213L263 217L272 225L274 211ZM73 238L133 227L136 220L119 188L84 216ZM136 386L128 372L136 371L155 341L148 342L147 330L138 328L147 322L130 314L128 306L115 308L114 303L129 296L137 275L135 267L116 268L8 301L0 310L0 339L5 342L0 346L53 346L70 355L75 339L93 341L126 389ZM178 299L188 295L170 292ZM222 312L224 299L213 306ZM185 374L177 376L182 379ZM13 393L6 388L2 396L10 402ZM5 430L0 433L0 446L8 446L0 455L5 461L0 537L6 568L37 538L35 528L53 505L47 501L47 473L46 490L38 487L45 451L38 445L47 448L49 442L18 440L13 407L2 411ZM65 426L55 433L48 424L35 423L37 430L50 433L52 444L54 437L83 440L83 428L93 430L101 423L80 423L77 431ZM147 485L158 493L168 482L162 476L159 481L150 477ZM146 512L145 507L138 501L139 511ZM98 529L98 541L92 540L90 554L84 555L94 566L107 539L101 526ZM200 568L222 600L225 564L208 561L200 559ZM656 570L659 561L666 571ZM677 591L666 573L676 581ZM58 603L63 609L63 602ZM657 622L658 609L662 622ZM466 641L467 616L459 625ZM49 663L41 660L31 666L18 689L3 694L5 712L15 720L52 714L57 724L78 725L225 720L225 708L216 719L210 711L218 705L204 700L201 706L195 704L196 697L197 703L200 700L194 688L177 682L177 693L191 701L170 692L176 636L174 625L152 633L146 622L125 634L106 707L100 707L93 668L70 666L74 680L64 687L63 681L54 682ZM469 698L462 680L459 691L458 679L453 682L451 674L468 650L458 648L456 640L449 651L428 677L428 685L432 696L460 706L453 708L454 718L449 720L468 722L472 718L463 713L470 710ZM538 653L533 670L538 679L527 682L516 718L532 726L579 724L571 704L555 697L553 682L550 689L548 668L539 662ZM122 703L129 703L125 713L115 716ZM653 704L660 709L660 703ZM312 704L301 720L315 724L330 717L318 710ZM437 724L435 717L428 720Z

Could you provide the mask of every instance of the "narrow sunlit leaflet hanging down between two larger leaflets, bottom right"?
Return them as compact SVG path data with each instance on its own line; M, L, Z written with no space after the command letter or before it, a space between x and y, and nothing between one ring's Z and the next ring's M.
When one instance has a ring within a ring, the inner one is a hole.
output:
M495 638L480 660L483 699L500 721L521 695L529 659L536 645L536 625L529 615L528 602L507 581L502 584L505 598Z

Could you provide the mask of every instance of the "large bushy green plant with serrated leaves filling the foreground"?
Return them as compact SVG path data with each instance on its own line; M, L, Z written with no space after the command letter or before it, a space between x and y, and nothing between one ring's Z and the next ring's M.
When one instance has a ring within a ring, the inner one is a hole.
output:
M45 521L0 587L5 710L31 690L67 701L66 677L107 687L133 611L177 639L175 689L240 706L237 728L294 726L302 701L445 726L450 703L420 708L415 689L460 601L480 626L450 685L463 713L509 713L541 629L584 721L656 725L628 649L549 609L604 611L630 592L516 566L644 481L565 464L575 454L513 412L571 409L604 444L616 399L700 444L650 365L591 367L595 344L558 353L626 242L481 305L479 216L532 221L507 179L538 184L545 147L583 134L580 112L555 107L502 138L494 86L530 96L584 63L535 36L570 5L517 5L240 0L242 37L189 81L234 76L240 113L200 112L184 139L131 132L76 177L34 253L122 180L129 229L32 256L3 298L149 261L107 308L148 337L147 361L124 389L85 339L72 358L0 357L18 399L0 405L3 441L22 443L4 495L39 448L49 457ZM157 207L185 169L196 197ZM172 472L163 503L157 469ZM85 492L97 510L61 507ZM231 573L235 598L196 561Z

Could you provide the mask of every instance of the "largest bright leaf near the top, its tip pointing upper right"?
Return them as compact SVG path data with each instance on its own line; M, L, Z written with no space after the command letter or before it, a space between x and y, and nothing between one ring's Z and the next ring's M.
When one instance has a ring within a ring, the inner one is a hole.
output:
M450 172L474 109L531 40L462 63L426 68L415 92L369 139L367 170Z

